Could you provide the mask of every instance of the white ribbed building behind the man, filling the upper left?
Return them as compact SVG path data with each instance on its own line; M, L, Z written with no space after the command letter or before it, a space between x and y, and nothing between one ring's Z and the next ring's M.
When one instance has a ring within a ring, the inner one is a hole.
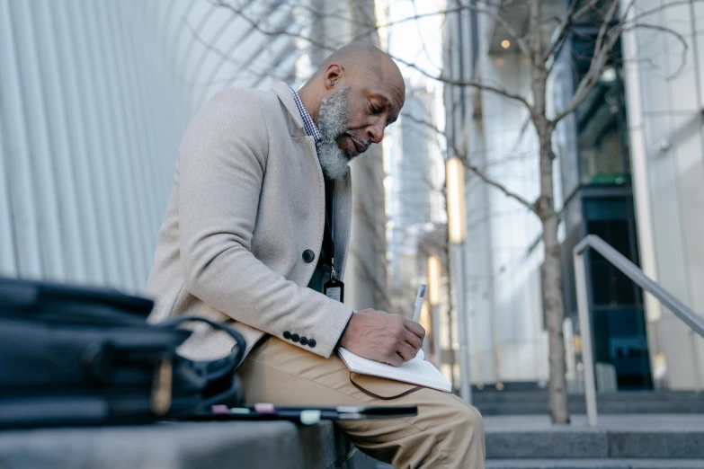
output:
M0 275L142 292L193 114L226 86L297 87L344 43L378 43L375 26L371 1L0 0ZM369 153L352 165L345 299L383 309Z

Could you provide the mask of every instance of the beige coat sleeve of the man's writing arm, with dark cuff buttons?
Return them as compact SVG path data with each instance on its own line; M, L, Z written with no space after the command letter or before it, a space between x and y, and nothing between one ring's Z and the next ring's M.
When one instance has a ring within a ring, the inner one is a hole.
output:
M352 308L274 272L251 252L268 155L266 121L252 91L228 89L192 120L179 151L179 242L192 295L274 336L314 339L333 352Z

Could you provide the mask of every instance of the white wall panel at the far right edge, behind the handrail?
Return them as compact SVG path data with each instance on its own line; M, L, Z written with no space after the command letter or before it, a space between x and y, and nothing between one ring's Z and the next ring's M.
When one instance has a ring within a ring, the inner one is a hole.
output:
M673 0L662 2L668 3ZM646 9L647 5L638 7ZM630 46L641 60L627 67L628 83L635 82L640 88L639 95L628 93L630 124L642 123L642 128L631 132L632 158L645 169L634 173L637 210L646 213L638 218L638 230L641 239L648 230L653 235L652 243L641 243L641 250L646 250L641 257L655 258L655 266L649 267L655 272L650 273L698 314L704 314L702 12L697 4L673 4L648 19L673 28L687 41L682 68L680 42L672 35L646 30L630 35ZM659 339L650 341L651 354L664 352L671 388L691 389L694 354L700 355L700 368L704 363L701 350L692 346L689 332L678 319L664 309L661 317L659 307L647 305L649 329Z

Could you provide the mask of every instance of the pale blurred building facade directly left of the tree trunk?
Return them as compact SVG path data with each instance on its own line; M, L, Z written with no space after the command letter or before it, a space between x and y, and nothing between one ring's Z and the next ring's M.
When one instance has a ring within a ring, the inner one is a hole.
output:
M450 6L450 4L449 4ZM456 5L455 5L456 6ZM522 58L497 49L495 24L475 11L448 14L445 74L528 93ZM494 93L445 86L448 156L467 157L525 199L539 194L536 137L528 112ZM471 380L482 387L548 377L540 301L540 228L526 208L467 173L463 246Z

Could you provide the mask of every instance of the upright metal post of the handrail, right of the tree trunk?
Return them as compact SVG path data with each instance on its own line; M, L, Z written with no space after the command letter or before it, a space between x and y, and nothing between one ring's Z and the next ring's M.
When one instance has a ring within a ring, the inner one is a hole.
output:
M594 359L592 355L592 323L589 318L589 301L586 288L586 267L584 251L574 252L575 283L577 288L577 313L579 332L582 336L582 363L584 364L584 395L586 396L587 423L596 426L596 383L594 380Z

